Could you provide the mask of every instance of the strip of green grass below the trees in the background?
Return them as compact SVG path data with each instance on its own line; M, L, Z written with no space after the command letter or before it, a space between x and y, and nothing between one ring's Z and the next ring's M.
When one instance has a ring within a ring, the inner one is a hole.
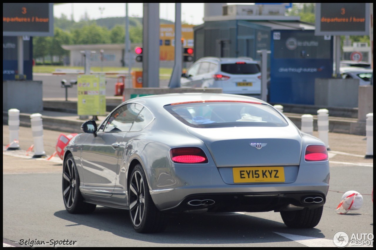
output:
M56 71L64 71L64 70L80 70L84 71L85 69L82 66L57 66L57 65L35 65L33 66L33 72L34 73L53 73ZM101 67L91 67L91 72L94 73L100 73L100 72L119 72L121 73L127 73L128 68L127 67L103 67L103 70ZM142 68L132 68L132 71L142 71ZM159 78L162 80L168 80L170 79L172 74L172 68L159 68ZM115 76L116 77L116 76Z

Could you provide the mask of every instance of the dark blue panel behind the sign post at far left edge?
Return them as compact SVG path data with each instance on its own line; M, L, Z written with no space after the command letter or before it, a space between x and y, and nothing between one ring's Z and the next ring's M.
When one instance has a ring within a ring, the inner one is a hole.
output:
M24 75L26 80L33 80L32 37L23 41ZM3 81L15 80L18 75L17 36L3 36Z

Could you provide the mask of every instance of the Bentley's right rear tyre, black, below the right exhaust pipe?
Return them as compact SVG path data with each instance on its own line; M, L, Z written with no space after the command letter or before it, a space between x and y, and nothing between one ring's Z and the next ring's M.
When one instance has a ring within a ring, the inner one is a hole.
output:
M312 228L317 226L323 214L324 206L314 209L302 209L296 211L281 211L283 222L288 227L293 228Z

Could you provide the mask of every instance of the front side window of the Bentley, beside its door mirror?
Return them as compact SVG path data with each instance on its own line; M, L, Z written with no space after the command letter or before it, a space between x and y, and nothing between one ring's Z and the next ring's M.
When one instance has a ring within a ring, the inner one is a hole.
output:
M142 105L136 103L125 104L117 108L106 121L103 132L129 131L142 108Z

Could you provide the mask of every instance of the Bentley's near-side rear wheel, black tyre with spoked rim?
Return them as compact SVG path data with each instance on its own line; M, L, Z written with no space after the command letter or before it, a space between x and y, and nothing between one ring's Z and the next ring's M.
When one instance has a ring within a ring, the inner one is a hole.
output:
M132 170L128 183L129 216L138 233L162 232L166 228L166 215L156 208L141 164Z

